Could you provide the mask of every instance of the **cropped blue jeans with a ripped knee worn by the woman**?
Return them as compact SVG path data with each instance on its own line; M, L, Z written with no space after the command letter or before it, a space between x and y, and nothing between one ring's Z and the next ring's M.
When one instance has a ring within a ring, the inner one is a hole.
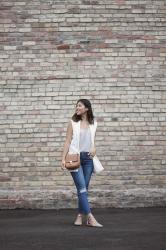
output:
M70 172L78 196L78 212L81 214L91 213L88 202L88 186L93 172L93 159L89 156L89 152L80 152L80 167L78 172Z

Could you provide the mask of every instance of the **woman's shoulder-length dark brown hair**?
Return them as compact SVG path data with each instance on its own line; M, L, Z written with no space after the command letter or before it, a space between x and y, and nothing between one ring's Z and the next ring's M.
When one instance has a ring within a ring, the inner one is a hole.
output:
M94 124L94 115L93 115L93 111L92 111L92 106L91 106L91 102L88 100L88 99L79 99L76 103L76 106L77 104L81 102L82 104L84 104L84 106L86 108L88 108L88 111L87 111L87 119L88 119L88 122L90 124ZM75 122L78 122L81 120L81 115L77 115L77 113L74 113L74 115L72 116L72 120L75 121Z

